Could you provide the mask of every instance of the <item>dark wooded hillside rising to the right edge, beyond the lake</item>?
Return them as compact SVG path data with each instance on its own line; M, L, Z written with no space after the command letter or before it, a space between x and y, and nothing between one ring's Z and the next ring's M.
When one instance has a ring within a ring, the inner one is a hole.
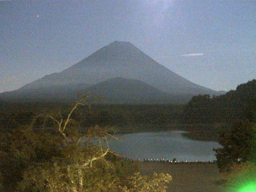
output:
M256 79L240 84L225 95L194 96L184 107L185 122L232 122L256 120Z

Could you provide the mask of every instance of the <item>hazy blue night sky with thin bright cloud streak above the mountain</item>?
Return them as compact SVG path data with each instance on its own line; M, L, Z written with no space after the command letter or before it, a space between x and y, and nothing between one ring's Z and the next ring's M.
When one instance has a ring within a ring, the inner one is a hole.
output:
M214 90L256 78L256 1L0 0L0 92L129 41Z

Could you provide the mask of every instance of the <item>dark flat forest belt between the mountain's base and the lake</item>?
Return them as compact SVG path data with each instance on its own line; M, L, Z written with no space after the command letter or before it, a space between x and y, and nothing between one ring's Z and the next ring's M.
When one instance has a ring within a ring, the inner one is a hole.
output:
M38 113L53 113L61 110L68 114L69 103L2 103L0 104L0 130L15 129L29 124ZM182 112L182 105L92 105L81 107L72 114L81 127L122 126L126 124L169 124L177 122ZM52 127L50 121L38 120L35 127Z

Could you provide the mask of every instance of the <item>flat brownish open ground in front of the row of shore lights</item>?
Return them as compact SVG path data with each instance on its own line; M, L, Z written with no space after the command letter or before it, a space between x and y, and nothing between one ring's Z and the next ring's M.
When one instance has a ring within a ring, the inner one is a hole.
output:
M139 165L142 174L170 174L172 181L167 192L224 192L222 176L216 164L140 162Z

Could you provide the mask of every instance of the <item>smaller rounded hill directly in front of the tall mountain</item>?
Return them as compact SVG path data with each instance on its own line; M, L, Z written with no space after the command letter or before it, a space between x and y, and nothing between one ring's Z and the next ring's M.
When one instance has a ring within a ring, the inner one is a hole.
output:
M106 104L181 104L192 98L192 95L169 94L140 80L121 77L90 86L84 93L100 98L91 102Z

